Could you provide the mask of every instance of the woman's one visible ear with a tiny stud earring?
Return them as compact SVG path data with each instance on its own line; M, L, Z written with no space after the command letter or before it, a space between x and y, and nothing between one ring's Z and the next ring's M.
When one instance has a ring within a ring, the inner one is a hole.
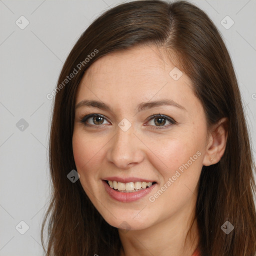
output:
M228 130L228 119L221 118L211 127L202 164L205 166L217 163L224 154Z

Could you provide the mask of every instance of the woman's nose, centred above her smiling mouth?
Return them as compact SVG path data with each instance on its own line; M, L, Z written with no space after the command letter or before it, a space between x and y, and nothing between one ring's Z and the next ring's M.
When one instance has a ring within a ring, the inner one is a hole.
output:
M118 168L128 169L144 158L143 143L134 133L133 125L126 131L117 127L116 134L109 141L107 160Z

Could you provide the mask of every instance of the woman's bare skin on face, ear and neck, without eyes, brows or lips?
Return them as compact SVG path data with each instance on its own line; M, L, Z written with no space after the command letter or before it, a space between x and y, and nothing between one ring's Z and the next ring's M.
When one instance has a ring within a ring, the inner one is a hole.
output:
M207 129L203 107L192 92L190 79L183 72L174 80L169 75L174 67L156 46L136 46L96 60L77 89L76 104L93 99L111 107L110 111L91 106L76 108L72 143L82 187L103 218L118 228L122 256L191 256L198 242L196 220L192 238L187 238L186 246L184 241L194 215L201 168L218 162L225 149L226 120ZM185 110L173 105L135 110L141 102L163 98L174 100ZM106 119L97 124L89 118L87 123L92 127L79 122L90 113ZM164 119L165 123L157 126L159 117L147 120L158 113L176 123ZM127 131L118 126L123 118L131 123ZM149 196L197 151L200 156L158 198L149 201ZM157 186L137 201L119 202L109 197L102 185L101 179L107 176L144 177L155 180Z

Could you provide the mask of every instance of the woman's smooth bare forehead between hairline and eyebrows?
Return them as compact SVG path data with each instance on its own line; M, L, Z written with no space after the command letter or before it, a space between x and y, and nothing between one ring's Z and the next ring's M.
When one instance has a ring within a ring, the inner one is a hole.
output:
M191 83L184 73L173 79L169 74L173 68L175 65L156 46L111 52L86 70L77 89L76 103L95 99L116 108L129 104L134 108L142 101L170 98L185 104L187 98L193 97Z

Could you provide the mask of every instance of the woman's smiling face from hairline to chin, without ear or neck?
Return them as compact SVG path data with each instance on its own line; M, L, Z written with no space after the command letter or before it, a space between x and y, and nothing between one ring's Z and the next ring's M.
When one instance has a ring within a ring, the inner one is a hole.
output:
M79 180L112 226L144 229L195 206L206 119L191 81L174 67L160 49L136 46L96 60L77 89Z

